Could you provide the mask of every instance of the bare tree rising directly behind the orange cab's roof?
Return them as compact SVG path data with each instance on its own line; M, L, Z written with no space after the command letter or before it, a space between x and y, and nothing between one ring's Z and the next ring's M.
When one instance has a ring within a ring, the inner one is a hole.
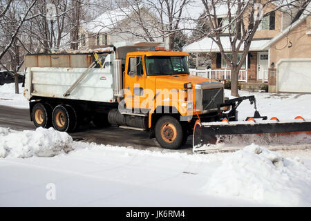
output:
M183 35L180 28L180 23L185 21L183 12L192 1L117 0L109 7L102 1L98 7L103 8L110 21L98 22L98 26L102 26L102 30L108 29L113 35L129 34L147 41L169 37L169 48L173 49L178 45L176 39ZM126 22L122 23L124 20Z

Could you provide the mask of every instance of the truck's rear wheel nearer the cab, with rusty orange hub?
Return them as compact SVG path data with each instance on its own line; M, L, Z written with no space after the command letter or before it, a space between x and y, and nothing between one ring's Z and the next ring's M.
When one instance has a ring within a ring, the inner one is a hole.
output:
M58 105L53 110L53 126L57 131L70 132L75 129L77 119L71 106Z

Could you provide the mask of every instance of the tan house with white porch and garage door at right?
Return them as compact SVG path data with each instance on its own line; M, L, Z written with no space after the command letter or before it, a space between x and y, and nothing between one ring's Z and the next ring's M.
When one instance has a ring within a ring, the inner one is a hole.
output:
M272 7L273 8L273 7ZM310 4L299 19L293 21L298 10L276 10L263 18L251 42L249 52L238 75L239 81L267 82L269 92L311 93L311 19ZM227 16L219 10L217 22ZM223 24L226 24L223 21ZM220 37L230 56L231 45L227 32ZM229 70L220 49L211 38L205 37L183 48L185 52L211 53L211 70L207 77L229 79ZM241 47L241 52L243 47ZM193 70L202 73L202 70Z

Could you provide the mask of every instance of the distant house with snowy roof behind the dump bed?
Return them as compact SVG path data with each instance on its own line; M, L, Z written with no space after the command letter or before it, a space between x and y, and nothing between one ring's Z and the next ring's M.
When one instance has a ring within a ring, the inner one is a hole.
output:
M145 7L140 8L140 17L148 25L151 36L160 36L159 21ZM118 8L104 12L97 19L82 24L79 28L79 50L103 48L120 41L151 41L146 30L138 24L135 12L129 8ZM147 25L146 25L147 26ZM153 28L151 28L153 26ZM169 47L169 37L152 37L153 41L164 42Z

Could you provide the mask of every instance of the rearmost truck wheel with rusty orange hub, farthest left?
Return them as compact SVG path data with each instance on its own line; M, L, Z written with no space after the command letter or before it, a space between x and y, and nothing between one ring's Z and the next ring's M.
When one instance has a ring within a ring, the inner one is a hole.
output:
M49 128L52 126L52 108L48 104L35 104L31 115L36 127Z

